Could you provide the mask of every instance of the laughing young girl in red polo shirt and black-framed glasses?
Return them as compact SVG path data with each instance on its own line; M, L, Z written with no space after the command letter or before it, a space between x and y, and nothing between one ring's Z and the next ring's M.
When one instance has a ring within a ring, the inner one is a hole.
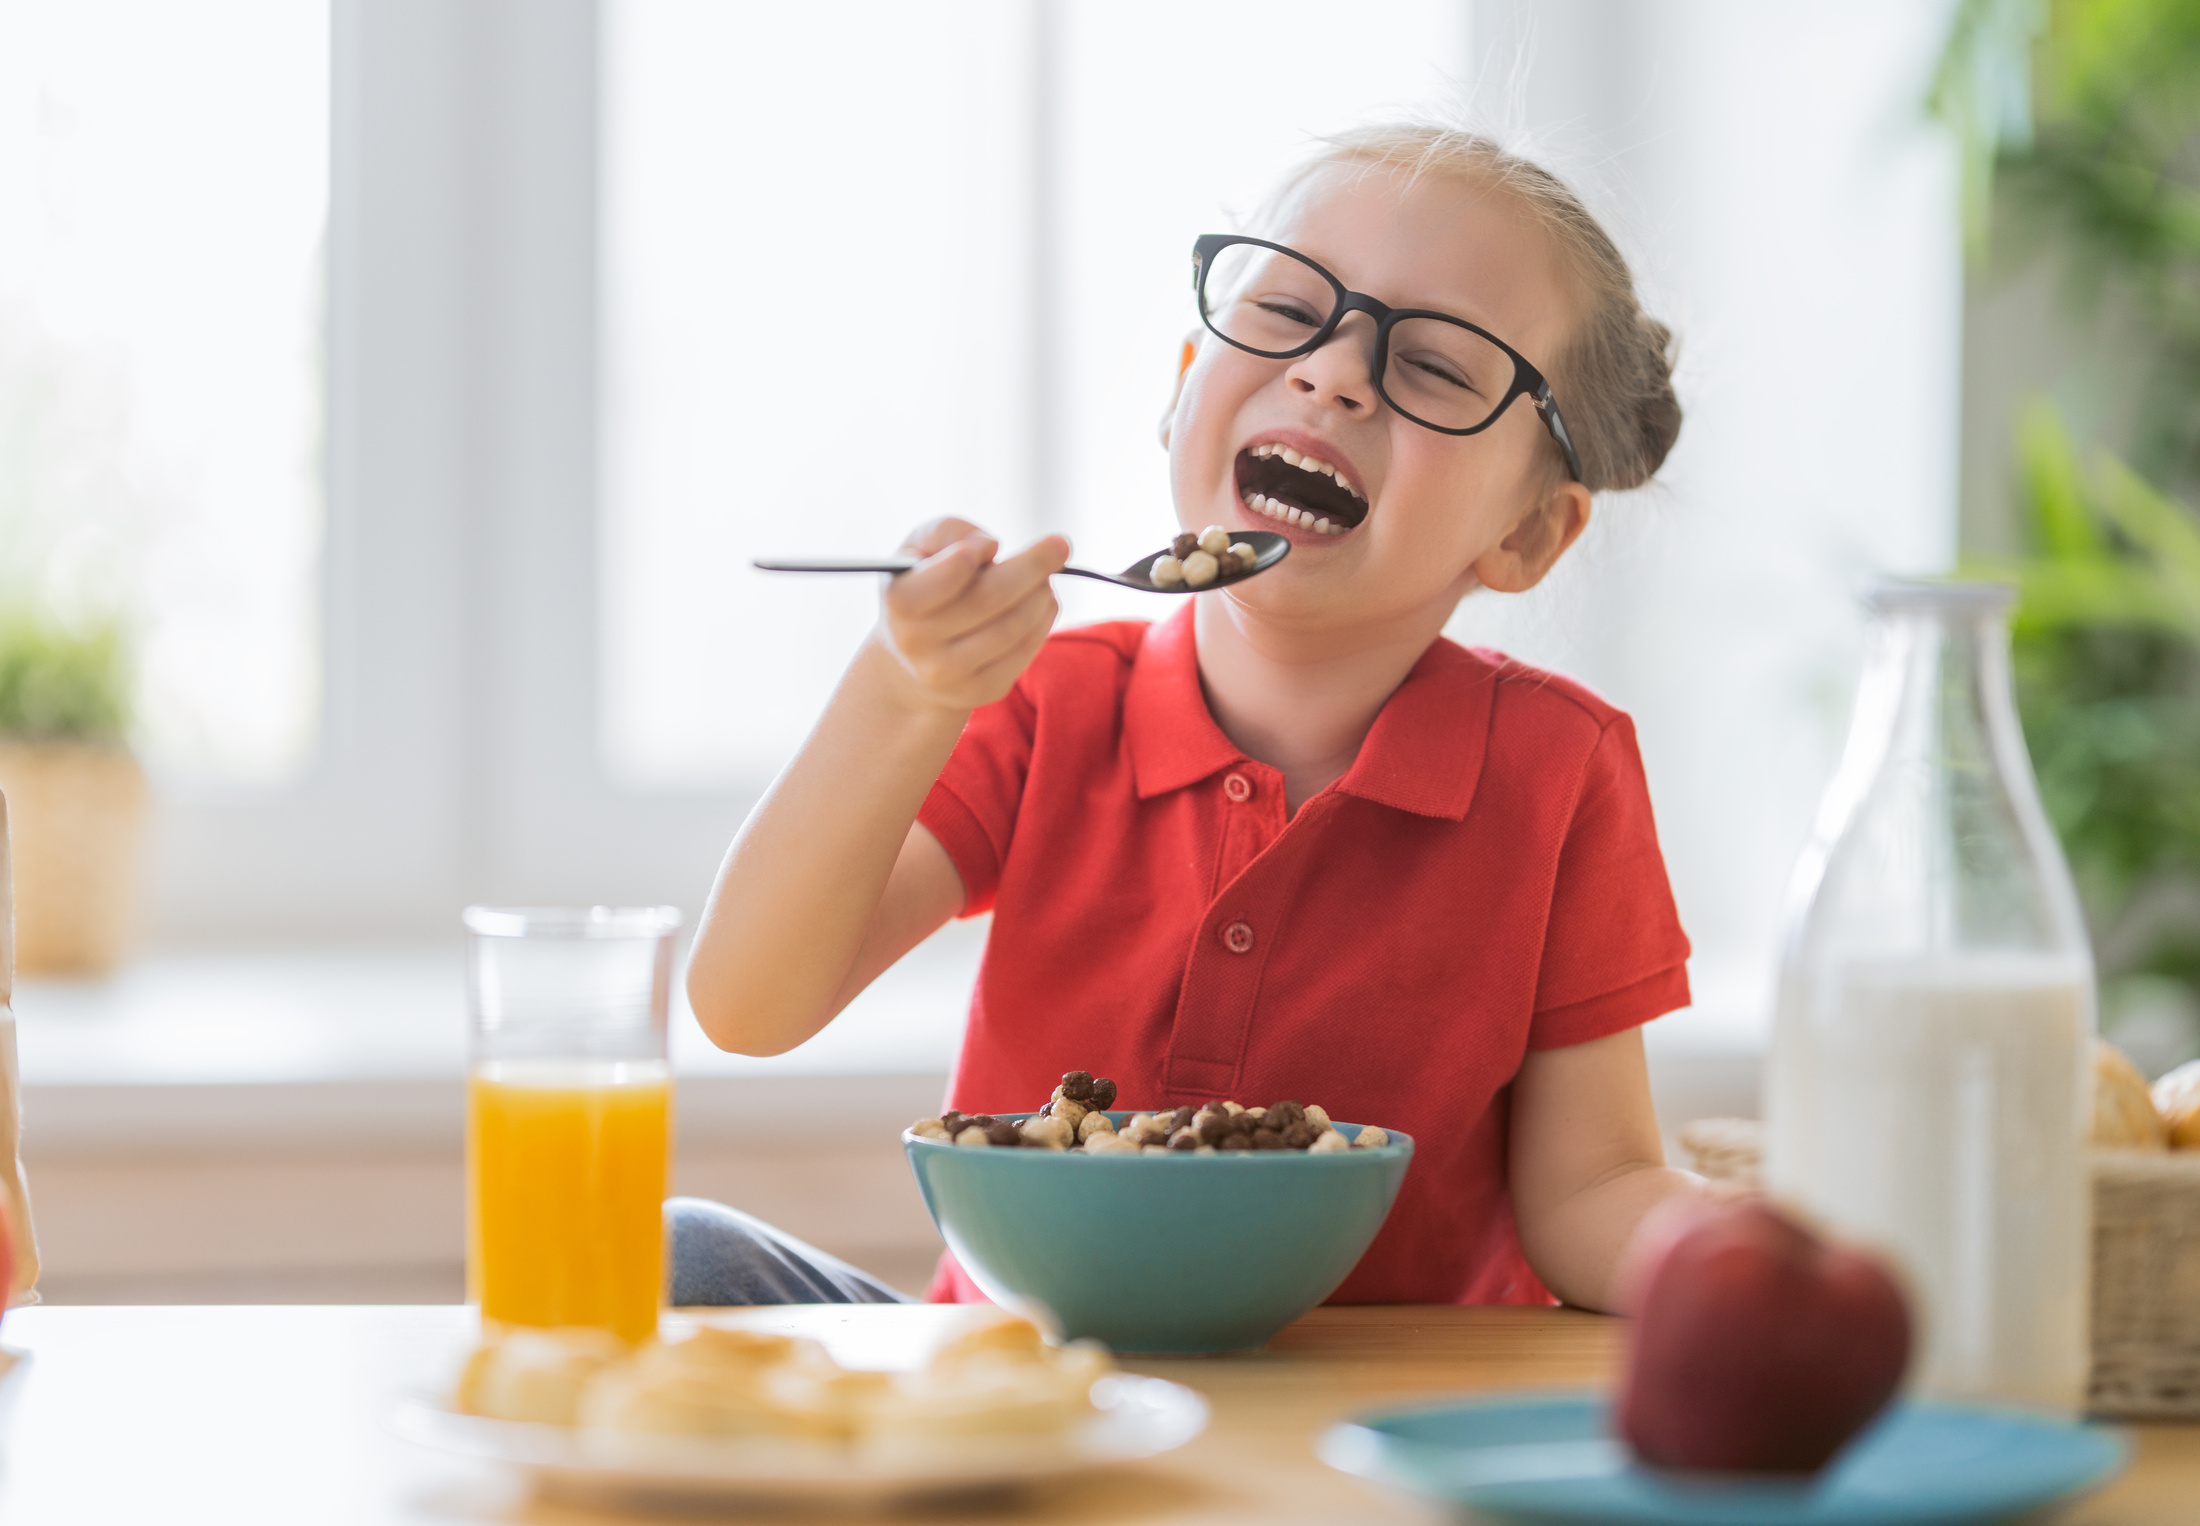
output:
M1670 336L1560 180L1454 130L1335 139L1254 233L1199 240L1162 442L1181 526L1289 559L1049 635L1060 537L917 530L726 855L689 996L781 1053L990 910L953 1106L1069 1069L1118 1106L1320 1102L1417 1141L1340 1302L1610 1308L1637 1223L1694 1190L1641 1047L1687 939L1628 717L1441 631L1657 471ZM675 1302L889 1295L728 1209L673 1231ZM944 1262L933 1297L977 1291Z

